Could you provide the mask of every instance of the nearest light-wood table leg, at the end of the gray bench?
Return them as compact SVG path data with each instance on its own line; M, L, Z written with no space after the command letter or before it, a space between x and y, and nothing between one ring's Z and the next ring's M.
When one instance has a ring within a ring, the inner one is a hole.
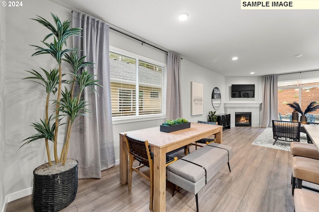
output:
M165 212L166 207L166 152L154 147L154 212Z

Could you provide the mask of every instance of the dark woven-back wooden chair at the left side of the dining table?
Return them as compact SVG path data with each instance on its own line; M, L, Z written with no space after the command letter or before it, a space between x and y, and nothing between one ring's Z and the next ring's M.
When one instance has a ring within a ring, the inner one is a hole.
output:
M153 210L153 196L154 196L154 179L153 179L153 152L147 140L140 140L138 138L130 137L125 134L125 140L129 152L129 191L132 189L132 173L135 171L142 177L150 181L150 210ZM137 160L140 165L133 167L133 162ZM166 166L176 161L177 157L170 157L166 155ZM139 169L147 166L150 168L150 176L142 173Z

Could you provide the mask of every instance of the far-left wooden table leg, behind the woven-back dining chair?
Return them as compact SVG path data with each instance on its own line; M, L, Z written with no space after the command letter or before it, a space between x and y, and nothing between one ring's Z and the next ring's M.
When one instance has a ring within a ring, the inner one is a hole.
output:
M129 172L129 156L128 147L124 140L124 135L120 134L120 183L126 184L128 182Z

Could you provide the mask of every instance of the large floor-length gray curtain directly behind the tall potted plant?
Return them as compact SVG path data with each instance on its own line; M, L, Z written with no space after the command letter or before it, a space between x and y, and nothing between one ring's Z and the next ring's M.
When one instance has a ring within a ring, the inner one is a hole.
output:
M91 89L83 98L89 103L89 117L80 116L72 129L69 157L79 162L79 178L101 178L101 171L115 165L112 128L111 86L109 64L109 26L86 14L73 11L73 27L83 28L82 37L74 37L73 45L93 62L91 73L100 80L98 94Z

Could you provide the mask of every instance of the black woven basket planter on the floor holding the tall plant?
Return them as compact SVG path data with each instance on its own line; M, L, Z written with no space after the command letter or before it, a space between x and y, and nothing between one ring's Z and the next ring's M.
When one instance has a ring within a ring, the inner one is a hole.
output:
M58 212L74 201L78 190L78 161L73 168L58 174L38 175L35 170L32 194L35 212Z

